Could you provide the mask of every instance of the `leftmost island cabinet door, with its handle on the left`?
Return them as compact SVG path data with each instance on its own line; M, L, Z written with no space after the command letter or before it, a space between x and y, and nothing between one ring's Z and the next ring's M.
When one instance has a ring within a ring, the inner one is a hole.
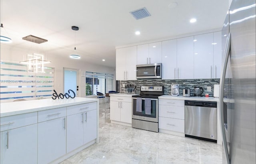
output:
M2 164L37 163L37 124L2 132Z

